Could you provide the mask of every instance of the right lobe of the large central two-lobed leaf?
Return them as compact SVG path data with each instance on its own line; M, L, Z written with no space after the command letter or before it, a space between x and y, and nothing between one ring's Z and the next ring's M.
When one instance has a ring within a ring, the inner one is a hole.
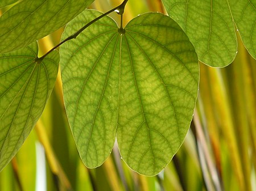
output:
M119 148L126 163L156 175L183 143L197 97L193 45L174 20L144 14L122 40Z

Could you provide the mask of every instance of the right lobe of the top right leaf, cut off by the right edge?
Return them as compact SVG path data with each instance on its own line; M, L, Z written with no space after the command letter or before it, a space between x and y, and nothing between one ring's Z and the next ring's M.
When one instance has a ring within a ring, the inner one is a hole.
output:
M256 1L229 1L243 44L256 59Z

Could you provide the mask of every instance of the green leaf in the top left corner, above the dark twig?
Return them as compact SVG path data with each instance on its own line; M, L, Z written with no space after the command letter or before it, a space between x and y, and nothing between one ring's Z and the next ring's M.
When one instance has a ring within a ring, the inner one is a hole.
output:
M22 48L75 18L93 0L23 0L0 17L0 53Z

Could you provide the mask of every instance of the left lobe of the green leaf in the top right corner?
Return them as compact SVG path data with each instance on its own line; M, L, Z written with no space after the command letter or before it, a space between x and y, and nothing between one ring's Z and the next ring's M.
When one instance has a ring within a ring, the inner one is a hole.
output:
M195 46L201 62L224 67L236 57L237 40L228 1L163 0Z

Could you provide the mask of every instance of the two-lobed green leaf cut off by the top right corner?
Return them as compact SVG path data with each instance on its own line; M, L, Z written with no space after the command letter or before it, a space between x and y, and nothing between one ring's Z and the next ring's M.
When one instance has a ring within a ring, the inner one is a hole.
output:
M169 16L188 35L201 62L225 67L234 60L237 53L234 22L243 43L255 58L255 0L163 0L163 3Z

